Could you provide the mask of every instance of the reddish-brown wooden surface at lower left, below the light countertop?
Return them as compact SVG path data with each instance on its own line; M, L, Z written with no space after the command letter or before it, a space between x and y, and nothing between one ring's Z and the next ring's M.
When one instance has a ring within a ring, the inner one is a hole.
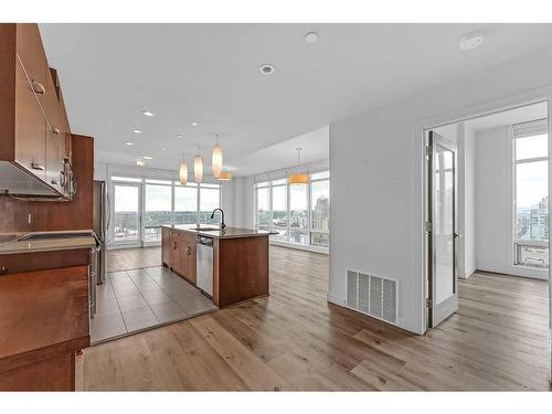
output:
M0 276L0 372L88 347L88 266Z

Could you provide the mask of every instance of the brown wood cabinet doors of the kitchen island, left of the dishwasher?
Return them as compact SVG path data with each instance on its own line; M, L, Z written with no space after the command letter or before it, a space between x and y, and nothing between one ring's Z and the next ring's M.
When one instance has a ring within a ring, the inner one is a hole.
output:
M161 256L163 265L195 285L195 238L187 232L162 229Z

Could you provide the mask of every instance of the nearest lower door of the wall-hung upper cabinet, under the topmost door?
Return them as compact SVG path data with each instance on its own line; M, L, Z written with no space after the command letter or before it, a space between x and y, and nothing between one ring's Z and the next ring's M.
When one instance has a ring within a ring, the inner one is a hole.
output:
M46 123L23 66L15 66L15 161L45 180Z

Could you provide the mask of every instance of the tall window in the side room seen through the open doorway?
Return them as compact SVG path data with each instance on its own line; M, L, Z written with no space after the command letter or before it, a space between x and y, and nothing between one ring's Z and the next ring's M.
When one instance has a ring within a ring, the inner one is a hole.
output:
M549 266L546 123L513 126L514 262Z

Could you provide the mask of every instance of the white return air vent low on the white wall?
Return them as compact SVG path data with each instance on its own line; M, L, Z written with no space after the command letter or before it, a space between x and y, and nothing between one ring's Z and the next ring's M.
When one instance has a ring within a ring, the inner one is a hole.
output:
M347 270L347 307L396 325L397 287L393 279Z

